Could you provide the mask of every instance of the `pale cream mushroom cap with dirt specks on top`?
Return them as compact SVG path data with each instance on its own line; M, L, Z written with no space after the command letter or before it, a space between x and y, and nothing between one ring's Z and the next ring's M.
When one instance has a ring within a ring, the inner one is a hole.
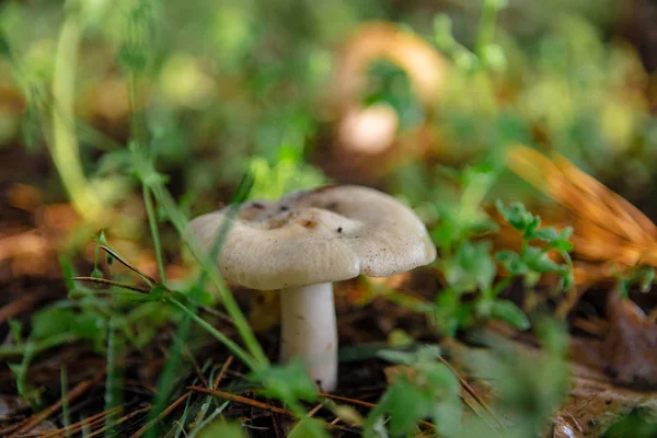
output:
M187 232L206 253L227 211L189 223ZM228 281L273 290L360 274L385 277L435 258L425 226L408 207L373 188L346 185L241 205L217 263Z

